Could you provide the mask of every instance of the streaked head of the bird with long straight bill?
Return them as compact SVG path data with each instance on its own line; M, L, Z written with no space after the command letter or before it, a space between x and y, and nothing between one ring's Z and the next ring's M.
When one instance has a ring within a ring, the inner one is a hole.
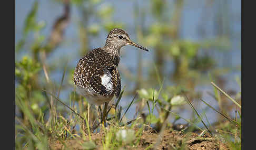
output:
M117 28L112 29L107 36L105 48L111 50L112 52L119 53L120 48L126 45L132 45L145 51L149 51L139 44L133 42L126 31Z

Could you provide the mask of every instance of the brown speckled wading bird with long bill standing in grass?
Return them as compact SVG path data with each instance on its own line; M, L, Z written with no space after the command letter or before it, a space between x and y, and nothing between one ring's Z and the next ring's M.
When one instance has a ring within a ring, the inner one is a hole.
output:
M125 30L114 28L107 35L105 46L88 51L78 61L74 71L74 84L77 93L85 97L89 104L105 103L106 108L114 96L119 97L121 77L117 67L120 49L126 45L149 51L133 42Z

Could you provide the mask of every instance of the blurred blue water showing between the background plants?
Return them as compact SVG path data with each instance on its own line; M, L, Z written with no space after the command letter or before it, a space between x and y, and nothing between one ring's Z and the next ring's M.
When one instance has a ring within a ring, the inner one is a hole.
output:
M43 35L48 36L51 33L52 25L54 20L60 16L63 12L63 5L60 3L56 3L56 1L38 1L39 8L38 8L38 21L44 21L46 23L46 27L42 30ZM136 1L104 1L102 4L97 6L97 9L100 9L103 5L111 5L114 7L114 14L112 20L115 22L120 22L125 25L125 29L129 33L131 39L136 41L136 34L135 34L135 27L134 27L134 15L133 15L133 7ZM211 6L206 5L206 3L213 4ZM24 25L24 20L26 15L32 8L34 1L33 0L16 0L15 1L15 42L17 42L22 37L22 30ZM231 48L223 53L212 52L212 57L216 59L218 62L219 67L229 67L235 68L237 66L241 66L241 1L232 0L227 1L227 7L224 7L224 1L203 1L203 0L194 0L194 1L184 1L184 8L181 17L180 23L180 38L187 39L192 41L201 41L204 39L211 39L216 36L215 28L220 26L218 23L215 22L215 17L217 15L227 15L228 20L224 20L223 22L227 21L223 27L223 33L230 33L230 42ZM151 4L150 1L137 1L140 9L145 10L145 13L148 14L145 17L145 26L150 26L154 23L154 19L151 17ZM168 1L168 7L170 7L170 13L172 13L173 9L173 1ZM220 11L222 10L222 11ZM54 82L60 83L61 76L63 72L63 64L61 60L65 57L68 57L68 66L75 68L77 61L82 57L78 54L80 50L80 39L78 36L78 20L80 20L81 15L78 12L78 9L73 5L71 9L71 22L65 30L65 39L64 42L55 50L50 58L48 58L47 63L54 62L56 66L61 66L61 69L58 69L59 73L52 74L51 79ZM206 17L205 22L202 23L202 18ZM90 20L90 24L93 24L94 20ZM202 26L200 26L202 25ZM205 34L200 35L199 29L203 27ZM226 30L229 29L229 30ZM91 49L96 47L101 47L105 44L105 38L107 33L102 32L99 37L93 37L90 41ZM29 49L31 44L33 43L33 34L29 34L27 38L27 44L25 45L25 49ZM150 67L153 60L153 52L154 49L151 47L147 47L150 51L142 52L143 58L143 73L145 76L147 75L147 68ZM214 49L213 49L214 50ZM120 66L125 65L127 69L129 69L133 74L136 74L136 66L137 66L137 55L138 52L134 47L126 46L122 48L122 58ZM26 52L25 52L26 53ZM18 59L19 57L16 56ZM166 72L172 72L172 61L168 61L170 66ZM121 72L121 76L123 76ZM235 91L240 92L241 89L237 82L235 81L235 76L239 76L241 78L241 71L232 69L232 71L225 76L227 79L227 89L233 89ZM67 82L65 78L64 82ZM134 83L131 81L126 81L122 79L122 85L127 85L127 87L132 88ZM70 89L72 90L73 87L71 86ZM62 92L60 98L66 99L67 95L70 91L66 90L67 92ZM210 83L208 85L201 85L197 87L196 90L202 91L203 99L206 102L212 103L216 109L218 109L218 103L211 98L206 91L212 92L212 87ZM132 100L132 97L125 97L121 101L122 106L126 106ZM189 107L188 105L185 107ZM206 106L204 104L199 104L197 106L198 109L202 110L205 109ZM133 118L135 112L135 105L127 112L127 117L129 119ZM185 118L189 118L190 114L192 113L191 109L185 109L182 111L176 110L181 116ZM217 120L216 115L212 110L206 112L206 116L211 118L211 122L215 122ZM157 115L157 114L156 114ZM183 122L183 121L181 121Z

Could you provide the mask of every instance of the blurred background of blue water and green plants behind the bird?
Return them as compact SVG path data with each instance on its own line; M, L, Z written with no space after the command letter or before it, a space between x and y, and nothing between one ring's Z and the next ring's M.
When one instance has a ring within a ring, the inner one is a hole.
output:
M241 104L238 0L15 1L16 96L31 106L34 115L44 113L46 118L51 106L57 105L61 114L70 110L42 89L78 107L84 101L74 93L76 63L89 50L104 46L112 28L126 30L132 40L149 49L121 49L119 71L125 89L120 105L127 108L139 93L126 114L127 120L133 119L138 109L147 110L140 106L160 89L159 105L170 103L172 98L182 102L184 97L180 96L185 92L210 123L223 117L206 108L200 99L234 117L235 105L216 93L210 83ZM172 102L172 111L185 118L192 116L188 104ZM161 110L154 115L161 116ZM16 116L25 117L18 106ZM169 117L170 121L174 119Z

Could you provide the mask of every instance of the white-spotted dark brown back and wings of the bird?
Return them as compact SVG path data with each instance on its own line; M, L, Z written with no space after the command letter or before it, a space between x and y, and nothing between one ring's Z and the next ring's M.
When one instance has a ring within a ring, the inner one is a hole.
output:
M78 61L74 72L75 85L92 90L97 95L106 98L113 97L113 95L118 97L121 91L121 79L117 70L119 61L119 57L111 56L102 48L93 49ZM106 89L102 85L104 74L111 74L112 89Z

